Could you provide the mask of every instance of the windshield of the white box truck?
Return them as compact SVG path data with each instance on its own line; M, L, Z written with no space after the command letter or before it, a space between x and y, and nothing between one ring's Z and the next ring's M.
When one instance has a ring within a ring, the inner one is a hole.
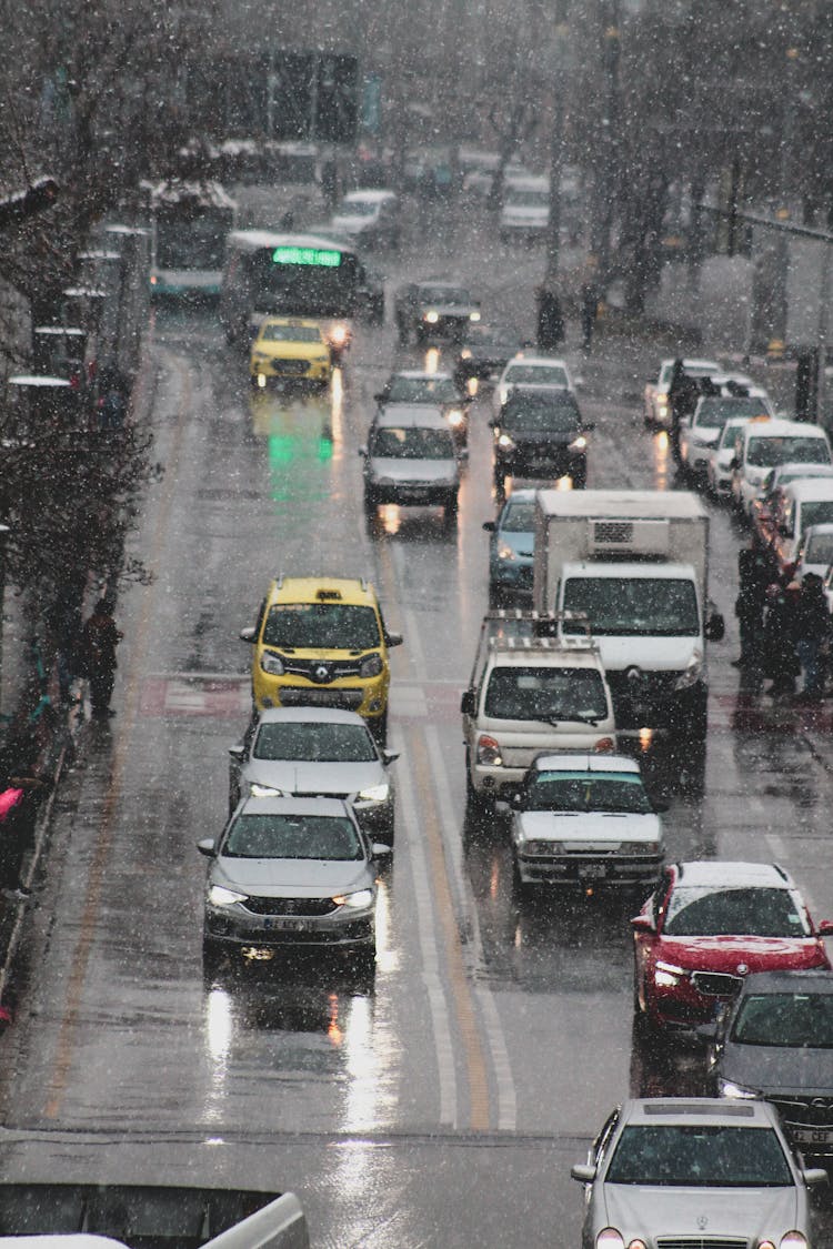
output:
M584 612L602 637L696 637L699 633L694 583L651 577L568 577L564 610ZM577 622L564 633L582 633Z

